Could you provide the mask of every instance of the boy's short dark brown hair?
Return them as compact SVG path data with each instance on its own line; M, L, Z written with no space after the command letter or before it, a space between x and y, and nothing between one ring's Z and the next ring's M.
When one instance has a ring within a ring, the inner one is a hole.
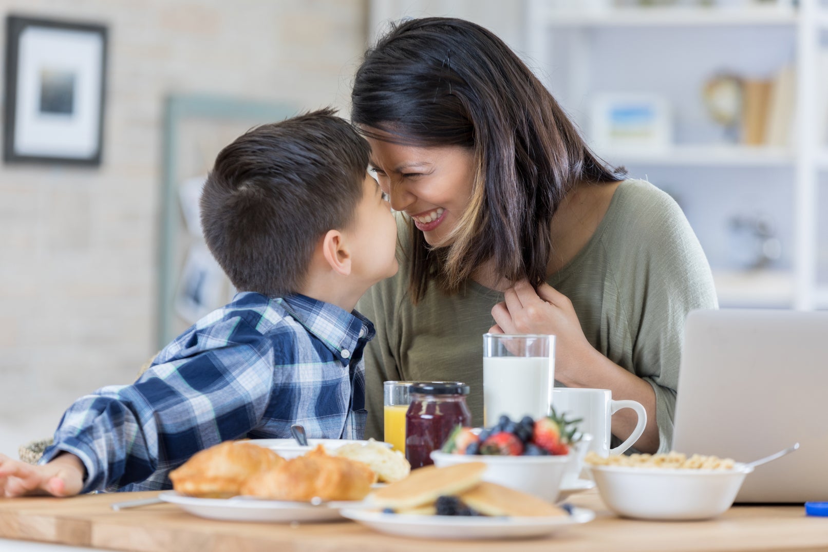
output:
M319 239L346 228L370 147L332 108L255 127L216 157L201 226L239 291L298 291Z

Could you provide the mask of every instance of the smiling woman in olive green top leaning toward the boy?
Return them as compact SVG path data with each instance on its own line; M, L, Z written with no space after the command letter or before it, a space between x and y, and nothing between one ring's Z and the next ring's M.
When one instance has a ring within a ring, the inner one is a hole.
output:
M669 450L684 319L716 306L676 203L604 165L517 55L471 22L394 26L352 100L402 247L397 276L357 307L378 330L368 434L382 436L385 380L469 383L481 424L481 334L555 334L556 381L641 402L635 449ZM621 410L614 438L635 423Z

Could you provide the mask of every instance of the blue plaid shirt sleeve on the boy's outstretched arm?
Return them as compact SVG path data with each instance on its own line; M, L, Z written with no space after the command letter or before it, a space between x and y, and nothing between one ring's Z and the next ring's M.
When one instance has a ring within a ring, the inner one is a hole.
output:
M233 324L238 338L243 323ZM273 386L272 347L261 334L246 337L75 401L41 463L61 451L75 454L87 470L82 492L144 481L163 488L172 468L262 419Z

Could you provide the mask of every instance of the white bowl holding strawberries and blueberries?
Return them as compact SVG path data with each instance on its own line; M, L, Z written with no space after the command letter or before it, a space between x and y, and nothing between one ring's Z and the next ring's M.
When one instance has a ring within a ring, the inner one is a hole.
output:
M498 483L517 491L528 492L548 502L555 502L561 491L561 479L572 454L558 456L491 456L489 454L431 453L437 468L458 463L483 462L488 468L484 481Z

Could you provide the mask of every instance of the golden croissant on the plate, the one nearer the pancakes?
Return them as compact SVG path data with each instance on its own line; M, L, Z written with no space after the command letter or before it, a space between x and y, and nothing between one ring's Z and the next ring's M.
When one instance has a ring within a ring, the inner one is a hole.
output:
M349 458L325 454L321 445L278 468L260 472L243 483L244 495L272 500L307 502L322 500L362 500L371 491L377 476L368 465Z

